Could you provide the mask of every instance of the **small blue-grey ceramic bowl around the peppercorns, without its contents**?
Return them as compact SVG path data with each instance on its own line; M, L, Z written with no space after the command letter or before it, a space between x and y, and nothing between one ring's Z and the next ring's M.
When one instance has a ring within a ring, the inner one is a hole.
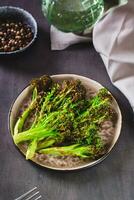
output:
M8 54L16 54L19 52L22 52L24 50L26 50L28 47L30 47L33 42L35 41L36 37L37 37L37 23L36 20L34 19L34 17L27 11L25 11L22 8L18 8L18 7L12 7L12 6L2 6L0 7L0 21L4 20L13 20L13 21L21 21L25 24L27 24L28 26L30 26L32 32L33 32L33 38L32 40L28 43L27 46L25 46L24 48L20 49L20 50L16 50L16 51L11 51L11 52L0 52L0 55L8 55Z

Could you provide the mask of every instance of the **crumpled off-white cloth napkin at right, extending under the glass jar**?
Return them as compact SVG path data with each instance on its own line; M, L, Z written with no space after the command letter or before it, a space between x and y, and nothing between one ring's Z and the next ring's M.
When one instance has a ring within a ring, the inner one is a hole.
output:
M52 50L62 50L71 44L90 40L51 27ZM112 83L124 93L134 110L134 0L113 10L96 24L93 43Z

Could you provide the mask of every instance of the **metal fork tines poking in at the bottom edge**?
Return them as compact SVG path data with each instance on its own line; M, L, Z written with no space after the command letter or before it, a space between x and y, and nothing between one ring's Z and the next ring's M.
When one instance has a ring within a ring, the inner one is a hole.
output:
M28 192L22 194L21 196L19 196L17 199L14 200L38 200L41 199L41 195L39 194L39 191L37 189L37 187L34 187L33 189L29 190Z

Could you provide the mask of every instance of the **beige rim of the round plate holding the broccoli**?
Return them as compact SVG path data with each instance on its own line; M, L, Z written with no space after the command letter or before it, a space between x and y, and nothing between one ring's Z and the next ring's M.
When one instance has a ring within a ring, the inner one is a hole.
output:
M93 79L90 79L90 78L87 78L87 77L84 77L84 76L80 76L80 75L76 75L76 74L57 74L57 75L52 75L51 76L52 79L54 80L63 80L63 79L79 79L82 81L82 84L84 83L87 84L90 88L90 85L92 85L92 87L94 86L94 88L96 89L100 89L104 86L102 86L100 83L98 83L97 81L93 80ZM11 124L11 121L12 121L12 115L13 115L13 111L15 110L15 107L16 107L16 104L17 104L17 101L19 98L21 98L21 95L29 88L29 85L26 86L20 93L19 95L15 98L15 100L13 101L11 107L10 107L10 110L9 110L9 114L8 114L8 130L11 134L11 136L13 136L13 133L12 133L12 124ZM25 96L26 97L26 96ZM112 95L113 97L113 95ZM24 98L24 97L23 97ZM111 147L109 148L108 152L106 154L104 154L101 158L99 158L98 160L95 160L95 161L92 161L92 162L89 162L89 163L86 163L86 164L83 164L83 165L80 165L80 166L77 166L77 167L72 167L72 168L67 168L67 167L64 167L64 168L58 168L58 167L51 167L51 166L48 166L48 165L43 165L41 164L39 161L37 161L36 159L32 159L32 161L42 167L45 167L45 168L48 168L48 169L53 169L53 170L58 170L58 171L72 171L72 170L80 170L80 169L83 169L83 168L88 168L88 167L93 167L95 165L97 165L98 163L102 162L109 154L110 152L112 151L112 149L114 148L115 144L117 143L118 139L119 139L119 136L120 136L120 132L121 132L121 127L122 127L122 115L121 115L121 110L119 108L119 105L117 103L117 101L115 100L115 98L113 97L113 100L114 100L114 103L115 103L115 106L116 106L116 109L117 109L117 113L118 113L118 123L117 123L117 133L116 133L116 137L115 137L115 140L113 142L113 144L111 145ZM25 155L25 152L24 152L24 149L23 148L20 148L19 146L17 146L18 149Z

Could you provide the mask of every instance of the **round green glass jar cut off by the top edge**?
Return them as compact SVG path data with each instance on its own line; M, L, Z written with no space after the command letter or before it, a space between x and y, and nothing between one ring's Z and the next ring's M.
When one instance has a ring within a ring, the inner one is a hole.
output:
M103 15L103 0L43 0L48 21L64 32L83 32Z

